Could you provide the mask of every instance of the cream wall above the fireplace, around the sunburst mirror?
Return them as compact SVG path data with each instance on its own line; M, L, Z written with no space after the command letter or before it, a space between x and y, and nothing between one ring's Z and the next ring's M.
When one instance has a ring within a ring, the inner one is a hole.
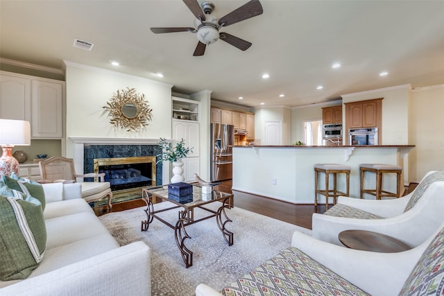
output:
M66 62L66 155L74 157L69 137L171 139L171 87L167 83ZM127 132L109 123L103 106L118 89L135 88L153 109L143 130Z

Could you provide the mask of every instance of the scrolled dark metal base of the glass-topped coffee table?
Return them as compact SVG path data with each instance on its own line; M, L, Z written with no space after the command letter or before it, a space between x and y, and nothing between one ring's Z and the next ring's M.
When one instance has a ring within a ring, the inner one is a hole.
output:
M178 221L176 222L176 225L171 225L167 221L163 220L159 216L157 216L157 213L160 213L162 211L169 211L171 209L177 209L180 206L175 207L169 207L167 209L161 209L158 211L154 211L153 208L153 202L151 201L151 197L143 197L143 200L146 202L146 209L144 210L146 213L146 220L142 221L141 230L146 232L150 226L150 223L153 222L153 219L156 218L157 220L160 220L160 222L164 223L165 225L171 227L174 229L174 236L176 238L176 244L178 245L178 248L180 250L180 253L182 254L182 259L185 262L185 266L189 268L193 265L193 252L187 248L185 245L185 239L190 238L187 234L187 231L185 230L185 227L194 223L198 223L203 220L207 220L212 217L216 217L216 223L219 229L221 230L223 234L223 238L228 243L228 245L233 244L233 233L230 232L228 229L226 229L225 224L228 222L232 222L230 218L228 218L225 209L231 209L232 208L232 196L225 198L222 201L222 206L217 209L217 211L213 211L212 209L207 209L203 206L198 206L200 209L204 209L205 211L208 211L212 214L209 216L205 216L203 218L200 218L198 220L194 220L194 207L184 209L183 211L179 211L179 217Z

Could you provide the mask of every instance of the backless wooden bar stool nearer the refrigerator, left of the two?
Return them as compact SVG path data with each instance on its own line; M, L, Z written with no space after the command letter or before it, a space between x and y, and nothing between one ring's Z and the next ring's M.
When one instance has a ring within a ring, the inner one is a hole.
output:
M333 204L339 195L349 196L350 194L350 166L344 164L315 164L314 165L314 206L318 205L318 194L325 195L325 209L328 209L328 198L333 198ZM318 189L318 173L325 173L325 189ZM345 184L347 193L338 191L336 174L345 173L347 183ZM333 189L330 189L329 175L333 174Z

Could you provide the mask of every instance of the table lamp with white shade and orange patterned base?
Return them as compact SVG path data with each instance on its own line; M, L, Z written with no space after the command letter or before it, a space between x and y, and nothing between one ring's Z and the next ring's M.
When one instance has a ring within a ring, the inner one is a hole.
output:
M3 155L0 157L0 175L18 175L19 162L11 155L11 150L16 145L31 145L31 125L28 121L0 119L0 146L3 149Z

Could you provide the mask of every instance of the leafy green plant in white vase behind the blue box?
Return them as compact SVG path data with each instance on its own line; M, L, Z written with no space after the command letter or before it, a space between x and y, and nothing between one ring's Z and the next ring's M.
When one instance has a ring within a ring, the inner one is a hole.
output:
M157 142L157 144L162 148L162 153L157 155L160 157L157 162L169 161L173 164L173 177L171 178L171 183L184 182L185 177L182 175L182 158L187 157L190 152L193 152L193 148L185 147L184 139L177 142L174 147L171 141L162 138L160 138L160 141Z

